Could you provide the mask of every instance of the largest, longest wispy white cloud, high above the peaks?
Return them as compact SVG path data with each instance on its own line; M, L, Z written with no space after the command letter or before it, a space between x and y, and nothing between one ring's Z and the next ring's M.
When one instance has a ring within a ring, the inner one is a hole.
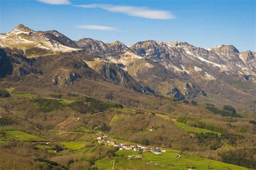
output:
M147 7L127 6L127 5L112 5L112 4L87 4L74 5L82 8L100 8L110 12L125 13L134 17L150 18L150 19L174 19L174 16L169 11L152 10Z

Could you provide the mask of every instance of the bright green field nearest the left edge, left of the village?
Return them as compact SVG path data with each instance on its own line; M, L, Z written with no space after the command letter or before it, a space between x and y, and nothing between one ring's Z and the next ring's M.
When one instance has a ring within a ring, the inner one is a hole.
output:
M28 134L22 131L17 131L17 130L6 130L4 131L4 134L8 140L14 139L18 141L27 141L27 142L32 142L32 141L47 141L46 139L43 139L41 137Z

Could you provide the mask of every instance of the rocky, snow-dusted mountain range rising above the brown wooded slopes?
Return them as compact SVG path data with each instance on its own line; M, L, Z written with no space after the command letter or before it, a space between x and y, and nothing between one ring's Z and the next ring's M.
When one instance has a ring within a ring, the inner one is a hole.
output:
M180 41L146 40L130 46L91 38L73 41L58 31L33 31L21 24L0 34L0 48L3 87L79 91L86 86L93 93L107 87L112 93L135 91L255 111L256 53L239 52L233 45L200 48Z

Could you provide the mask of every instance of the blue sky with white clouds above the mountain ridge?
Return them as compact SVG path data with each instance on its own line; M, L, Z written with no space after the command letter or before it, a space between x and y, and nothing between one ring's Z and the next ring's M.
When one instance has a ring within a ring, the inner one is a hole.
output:
M0 0L0 32L18 24L73 40L126 45L148 39L256 51L253 0ZM83 5L83 6L82 6Z

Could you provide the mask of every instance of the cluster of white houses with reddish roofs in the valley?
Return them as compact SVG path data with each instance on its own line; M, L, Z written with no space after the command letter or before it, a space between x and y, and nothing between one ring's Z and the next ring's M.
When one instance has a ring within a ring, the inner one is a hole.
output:
M103 143L105 145L111 145L114 147L118 147L119 150L133 150L139 152L152 152L154 154L160 155L162 152L166 152L164 149L160 149L160 147L149 147L140 144L125 144L116 142L114 140L105 140L107 135L104 134L102 137L98 137L98 143ZM142 158L142 156L129 155L130 158Z

